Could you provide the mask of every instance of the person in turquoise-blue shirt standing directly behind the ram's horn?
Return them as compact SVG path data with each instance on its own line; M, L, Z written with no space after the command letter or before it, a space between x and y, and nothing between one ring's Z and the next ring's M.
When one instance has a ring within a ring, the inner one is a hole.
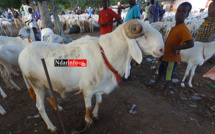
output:
M125 22L132 19L140 19L140 8L136 5L136 1L128 0L128 3L130 5L130 10L126 14Z

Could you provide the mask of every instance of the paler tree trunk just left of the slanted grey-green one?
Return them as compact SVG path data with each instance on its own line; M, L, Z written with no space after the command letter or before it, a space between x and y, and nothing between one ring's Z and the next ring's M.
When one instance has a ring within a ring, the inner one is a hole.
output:
M40 10L41 27L53 29L53 24L51 21L51 17L49 15L47 1L38 0L38 6L39 6L39 10Z

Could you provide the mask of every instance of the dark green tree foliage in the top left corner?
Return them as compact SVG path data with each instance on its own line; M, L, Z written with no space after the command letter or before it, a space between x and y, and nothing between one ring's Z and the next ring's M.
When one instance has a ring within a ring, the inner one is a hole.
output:
M0 0L0 7L4 9L11 7L19 9L23 2L24 0Z

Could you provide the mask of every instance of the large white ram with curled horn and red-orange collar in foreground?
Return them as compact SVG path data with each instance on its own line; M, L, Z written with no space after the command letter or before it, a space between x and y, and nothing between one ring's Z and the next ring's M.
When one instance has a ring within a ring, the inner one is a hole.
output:
M92 123L90 118L92 96L96 95L96 106L92 113L97 117L102 102L101 95L109 94L117 86L116 75L105 65L100 46L112 67L125 78L130 74L131 58L140 64L143 54L160 57L164 49L161 34L142 20L134 19L99 38L85 36L67 45L34 42L21 52L18 62L23 78L28 89L32 91L33 88L38 111L52 132L56 131L56 127L48 118L44 106L45 97L52 98L52 95L41 59L46 60L54 91L60 93L62 97L66 92L75 90L83 93L86 107L85 121L89 125ZM86 59L87 67L55 67L55 59Z

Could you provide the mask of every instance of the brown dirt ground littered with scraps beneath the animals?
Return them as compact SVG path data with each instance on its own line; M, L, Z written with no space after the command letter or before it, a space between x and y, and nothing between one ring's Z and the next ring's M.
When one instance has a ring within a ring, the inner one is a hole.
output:
M99 31L67 36L77 39L87 34L99 36ZM181 88L179 82L173 83L170 96L162 98L155 96L153 89L146 86L155 79L159 64L151 56L144 57L140 66L133 66L131 80L121 81L112 93L103 95L100 118L84 134L214 134L215 111L210 107L215 106L215 89L209 87L209 83L215 82L202 77L214 63L215 58L212 58L197 67L193 78L194 88L189 88L187 81L186 88ZM178 64L175 79L181 80L185 69L186 63ZM21 91L8 89L0 79L0 86L8 95L6 99L0 97L0 104L7 111L6 115L0 115L0 134L49 134L41 117L28 119L39 113L35 102L30 99L22 76L13 76L13 80L21 87ZM66 100L56 93L63 107L61 115L67 134L81 130L85 125L83 95L75 93L68 94ZM92 103L94 106L95 98ZM131 114L129 110L133 104L136 105L136 113ZM62 134L57 112L48 101L45 106L50 120L59 129L58 133Z

